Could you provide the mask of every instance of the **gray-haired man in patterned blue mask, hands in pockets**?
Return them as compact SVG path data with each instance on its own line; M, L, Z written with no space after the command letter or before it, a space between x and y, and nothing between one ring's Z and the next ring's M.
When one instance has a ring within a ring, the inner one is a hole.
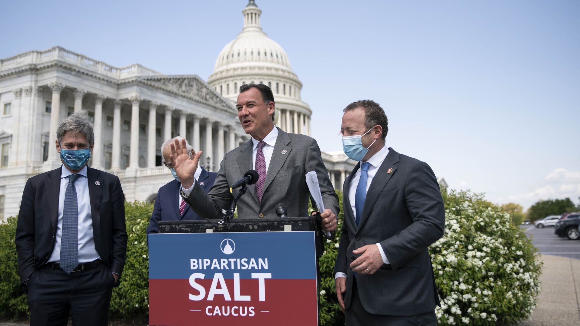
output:
M56 150L63 165L28 179L16 227L18 272L30 325L107 325L127 233L117 176L87 166L95 145L86 111L63 119Z

